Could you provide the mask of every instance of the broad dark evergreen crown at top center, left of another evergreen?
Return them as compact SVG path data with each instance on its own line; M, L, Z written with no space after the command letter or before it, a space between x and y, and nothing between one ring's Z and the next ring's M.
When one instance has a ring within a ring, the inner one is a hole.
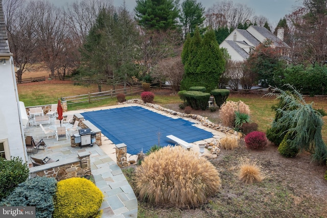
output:
M136 0L134 8L139 25L150 30L176 29L179 0Z

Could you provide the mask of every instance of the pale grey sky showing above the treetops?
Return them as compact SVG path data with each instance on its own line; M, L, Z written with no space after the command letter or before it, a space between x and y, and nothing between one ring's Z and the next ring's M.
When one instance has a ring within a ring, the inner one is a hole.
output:
M56 6L62 6L66 3L74 2L75 0L50 0ZM80 0L78 0L80 1ZM110 0L108 0L110 1ZM123 0L111 0L115 7L119 7L123 4ZM182 3L184 0L180 0ZM125 0L126 6L130 11L136 6L136 0ZM207 10L214 4L218 3L218 0L197 0L202 3L202 7ZM279 19L283 18L286 14L294 11L295 6L302 5L302 0L232 0L233 3L246 4L249 8L254 10L255 15L263 15L269 19L273 26L277 25Z

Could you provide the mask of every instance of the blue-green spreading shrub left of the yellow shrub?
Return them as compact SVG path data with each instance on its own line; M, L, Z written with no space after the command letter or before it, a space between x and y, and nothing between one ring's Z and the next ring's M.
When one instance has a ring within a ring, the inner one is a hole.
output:
M53 196L57 190L54 178L35 177L20 183L1 206L35 206L35 216L52 217L55 209Z

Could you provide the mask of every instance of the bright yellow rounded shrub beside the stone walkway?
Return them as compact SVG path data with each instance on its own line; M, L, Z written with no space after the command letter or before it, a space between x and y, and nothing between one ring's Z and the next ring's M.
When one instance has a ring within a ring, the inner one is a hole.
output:
M69 178L57 183L54 218L101 217L103 193L91 181Z

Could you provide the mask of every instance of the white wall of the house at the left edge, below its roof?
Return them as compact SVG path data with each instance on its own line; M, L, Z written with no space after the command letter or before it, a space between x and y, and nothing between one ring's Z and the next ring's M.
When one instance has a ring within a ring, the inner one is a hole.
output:
M5 149L6 156L21 157L24 161L27 161L25 140L23 139L24 132L22 132L19 117L19 101L13 59L9 56L2 57L3 55L0 54L0 60L5 59L6 64L0 63L0 142L5 141L5 146L8 144L10 154Z

